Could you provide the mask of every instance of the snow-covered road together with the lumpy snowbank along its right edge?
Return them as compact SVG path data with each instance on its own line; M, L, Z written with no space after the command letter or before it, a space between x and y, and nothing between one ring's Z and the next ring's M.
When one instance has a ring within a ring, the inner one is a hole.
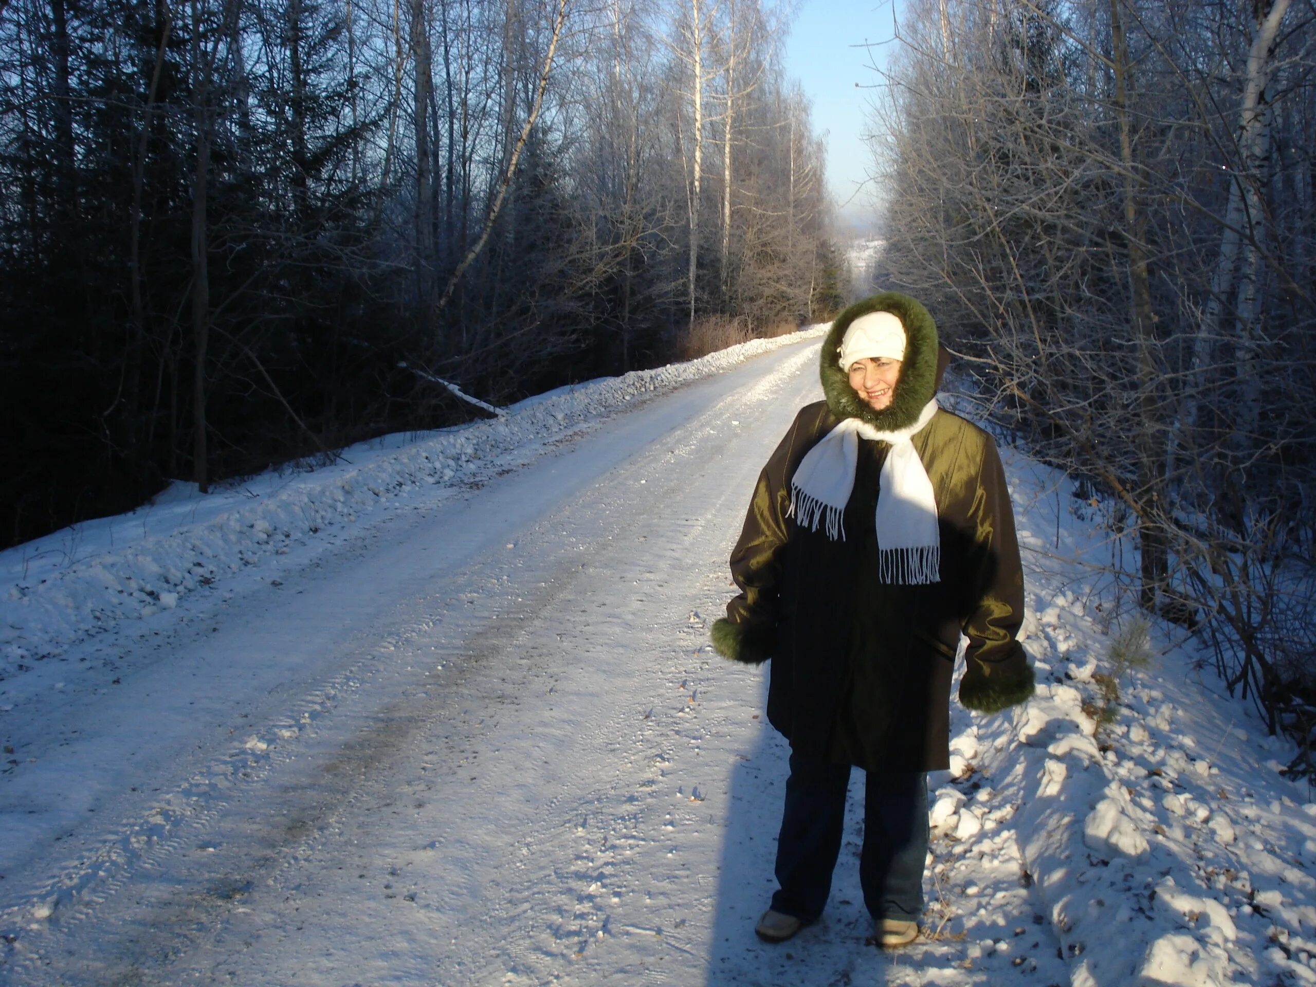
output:
M1044 686L955 712L928 938L865 944L851 812L825 919L754 940L786 747L765 670L712 654L707 624L816 353L420 488L53 651L49 688L11 674L0 982L1316 982L1316 817L1258 767L1282 747L1173 649L1094 738L1109 628L1073 559L1109 549L1013 454Z

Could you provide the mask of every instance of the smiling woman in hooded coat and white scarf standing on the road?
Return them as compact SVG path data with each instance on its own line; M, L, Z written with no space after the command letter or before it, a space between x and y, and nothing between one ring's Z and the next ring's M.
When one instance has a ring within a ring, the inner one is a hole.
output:
M928 311L886 292L851 305L822 343L824 401L767 461L732 576L741 592L715 647L771 658L767 719L791 744L779 890L755 932L779 942L826 904L850 767L866 772L859 876L874 938L917 937L928 851L925 772L949 766L959 701L995 712L1033 692L1015 634L1024 580L996 447L937 407L946 353Z

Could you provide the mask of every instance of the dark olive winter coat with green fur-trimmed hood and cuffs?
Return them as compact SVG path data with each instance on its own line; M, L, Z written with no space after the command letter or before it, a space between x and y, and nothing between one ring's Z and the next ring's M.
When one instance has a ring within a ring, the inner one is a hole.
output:
M891 404L874 411L838 363L851 321L894 312L905 358ZM917 301L886 292L851 305L832 325L820 358L824 401L803 408L759 474L732 578L741 592L713 624L728 658L771 658L769 721L795 750L869 771L949 766L950 683L961 632L967 637L959 701L995 712L1033 694L1033 671L1015 640L1024 579L1005 475L991 437L938 411L913 436L937 500L940 582L878 580L874 511L890 445L861 440L845 540L788 517L791 476L842 418L882 432L907 428L932 399L945 367L937 330Z

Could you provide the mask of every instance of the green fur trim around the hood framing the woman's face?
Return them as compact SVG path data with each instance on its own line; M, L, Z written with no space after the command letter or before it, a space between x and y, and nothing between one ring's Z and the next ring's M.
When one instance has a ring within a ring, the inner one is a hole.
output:
M900 379L891 404L882 411L874 411L859 400L859 395L850 387L849 374L840 363L845 330L855 318L871 312L890 312L905 330L905 358L900 365ZM855 301L832 322L819 358L819 376L826 407L836 417L859 418L879 432L908 428L937 392L937 324L932 321L928 309L899 291L884 291Z

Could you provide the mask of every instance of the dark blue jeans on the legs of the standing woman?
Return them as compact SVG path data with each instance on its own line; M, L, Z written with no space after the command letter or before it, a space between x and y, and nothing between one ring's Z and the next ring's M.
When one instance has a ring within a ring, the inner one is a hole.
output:
M776 844L772 911L813 921L832 891L850 766L791 751ZM928 783L921 772L867 776L859 884L874 919L919 921L928 857Z

